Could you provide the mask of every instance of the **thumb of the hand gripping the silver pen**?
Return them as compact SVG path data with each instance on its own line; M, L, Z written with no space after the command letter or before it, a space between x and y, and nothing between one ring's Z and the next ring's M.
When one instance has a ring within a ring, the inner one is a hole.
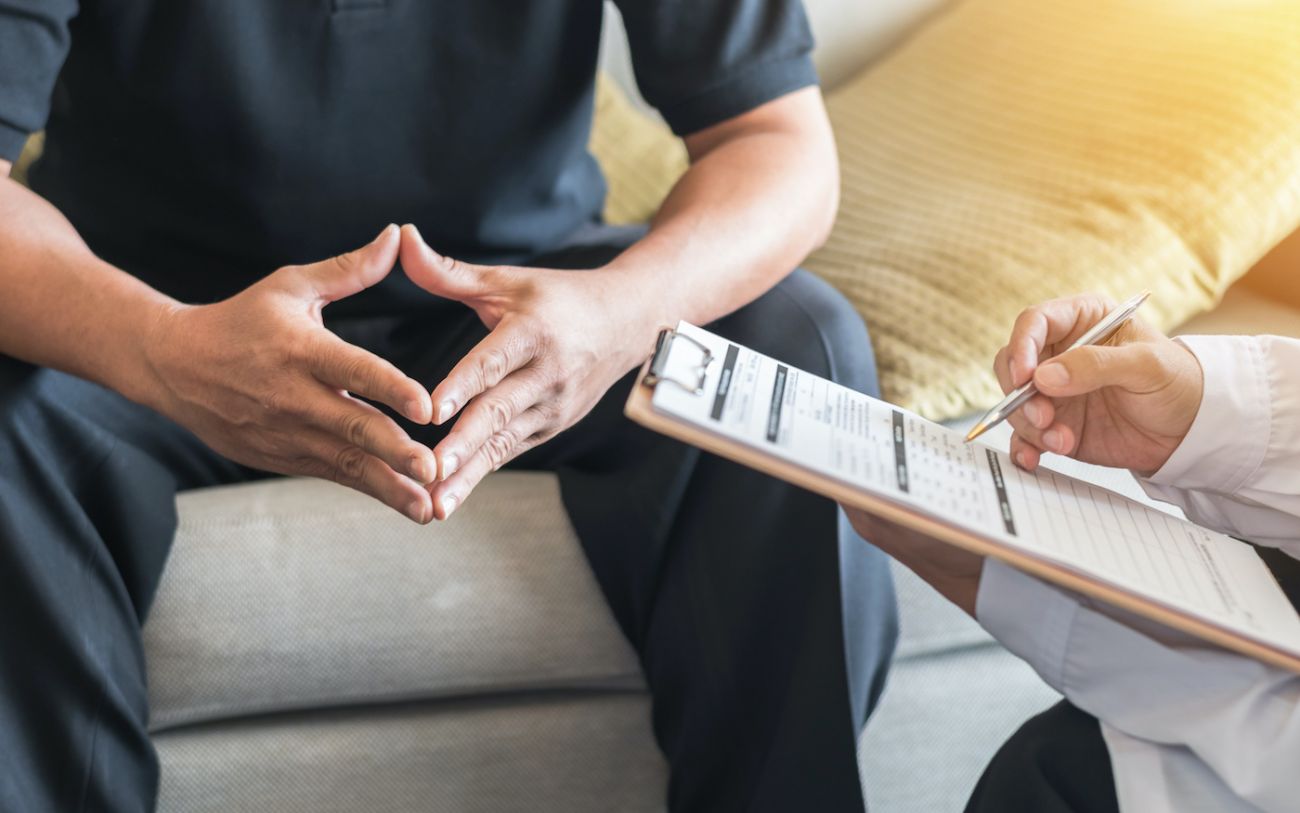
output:
M1088 345L1041 364L1034 371L1034 385L1044 395L1067 398L1106 386L1149 393L1162 386L1165 377L1165 366L1150 343Z

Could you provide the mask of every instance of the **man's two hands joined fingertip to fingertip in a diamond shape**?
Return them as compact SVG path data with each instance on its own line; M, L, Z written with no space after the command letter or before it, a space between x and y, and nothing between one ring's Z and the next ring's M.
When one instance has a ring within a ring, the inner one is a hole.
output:
M489 328L432 393L321 316L399 259L412 282ZM390 225L363 248L287 265L230 299L168 306L139 349L147 380L135 390L239 463L335 480L420 523L446 519L488 472L573 425L640 362L637 340L653 325L619 284L614 273L458 261L415 226ZM415 424L459 418L429 449L368 402Z

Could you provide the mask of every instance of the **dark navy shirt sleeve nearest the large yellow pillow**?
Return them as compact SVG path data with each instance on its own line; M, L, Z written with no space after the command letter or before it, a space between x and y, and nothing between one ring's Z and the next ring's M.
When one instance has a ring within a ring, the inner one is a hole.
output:
M800 0L615 0L646 101L673 133L816 85Z

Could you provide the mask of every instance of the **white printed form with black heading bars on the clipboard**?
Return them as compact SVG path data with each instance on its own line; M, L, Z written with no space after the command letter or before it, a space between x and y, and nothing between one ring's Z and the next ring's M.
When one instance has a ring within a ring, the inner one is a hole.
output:
M1300 618L1264 562L1231 537L1010 458L961 433L682 323L712 353L701 394L655 388L655 411L1300 652ZM702 353L675 341L664 377L693 380Z

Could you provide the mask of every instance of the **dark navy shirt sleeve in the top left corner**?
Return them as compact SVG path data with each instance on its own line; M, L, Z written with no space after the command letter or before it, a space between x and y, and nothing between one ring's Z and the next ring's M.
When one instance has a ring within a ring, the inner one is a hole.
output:
M77 0L0 0L0 160L16 160L46 126L77 8Z

